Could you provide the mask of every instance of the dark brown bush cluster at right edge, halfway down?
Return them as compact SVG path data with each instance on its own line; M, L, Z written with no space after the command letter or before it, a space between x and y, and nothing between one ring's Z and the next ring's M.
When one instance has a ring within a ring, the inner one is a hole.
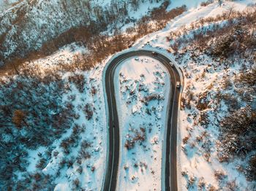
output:
M227 155L246 155L249 152L255 151L256 144L256 108L255 99L244 98L245 90L250 93L250 96L255 96L255 67L247 71L242 71L235 80L237 92L241 92L242 100L246 101L247 106L241 107L241 104L232 100L233 97L222 95L225 100L230 99L230 103L226 101L227 106L232 108L221 121L221 136L223 144L223 152ZM236 107L233 106L236 103Z

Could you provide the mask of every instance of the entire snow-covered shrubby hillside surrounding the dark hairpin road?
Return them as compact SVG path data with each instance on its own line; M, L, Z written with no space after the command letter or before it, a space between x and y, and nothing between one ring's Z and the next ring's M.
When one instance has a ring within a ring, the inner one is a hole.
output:
M88 12L89 7L81 10L86 2L24 1L0 13L0 60L37 49L90 17L98 22L97 13L110 6L110 1L94 1ZM56 47L48 44L44 50L52 46L56 52L13 65L14 73L0 69L0 190L101 189L108 155L102 77L113 55L100 57L97 52L102 55L113 42L121 42L114 50L122 50L124 39L135 41L138 33L147 35L131 50L157 49L175 59L184 74L177 135L180 190L255 190L256 2L224 1L221 7L218 1L200 6L202 2L173 0L168 11L183 4L187 11L182 9L153 33L130 28L136 25L132 17L141 18L162 1L140 2L137 8L129 7L129 17L116 21L122 31L105 26L113 38L98 35L95 44L75 38ZM123 26L127 18L130 22ZM160 19L147 20L146 28L154 28ZM95 50L88 50L87 43ZM125 61L116 72L122 130L118 190L160 189L170 83L165 79L165 69L148 58ZM143 98L155 94L159 100L146 105ZM140 139L131 142L136 134Z

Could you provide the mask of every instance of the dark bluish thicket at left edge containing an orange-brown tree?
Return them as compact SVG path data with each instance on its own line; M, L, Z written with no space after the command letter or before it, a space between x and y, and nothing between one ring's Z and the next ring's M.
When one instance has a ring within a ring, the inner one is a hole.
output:
M55 77L10 78L0 84L0 190L26 170L26 149L59 139L72 122L72 108L62 103L64 82ZM44 161L37 165L42 168Z

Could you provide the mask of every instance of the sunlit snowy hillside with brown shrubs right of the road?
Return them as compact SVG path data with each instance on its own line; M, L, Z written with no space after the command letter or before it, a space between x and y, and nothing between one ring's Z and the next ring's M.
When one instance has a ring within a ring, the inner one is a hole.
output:
M252 178L255 177L252 173L255 169L252 165L255 160L255 149L252 149L255 131L246 130L255 127L255 78L248 79L254 82L245 82L242 78L255 71L255 44L250 47L245 44L245 39L240 42L229 39L227 44L234 41L238 46L239 43L248 46L236 47L238 49L233 52L225 52L228 48L225 50L224 46L218 45L225 43L227 36L239 36L240 33L243 38L252 36L249 39L255 43L256 34L252 29L255 24L245 21L232 25L227 21L232 20L231 17L236 20L236 10L245 10L249 19L255 17L254 3L225 1L222 7L214 3L190 9L164 30L145 36L136 44L136 48L157 47L164 52L174 52L173 58L184 72L178 135L181 190L255 190L255 178ZM229 33L229 26L238 29ZM219 37L222 35L223 39ZM221 42L215 42L218 38ZM216 48L215 54L209 54L214 44L220 46L220 52ZM232 51L230 49L228 51ZM246 95L241 95L244 91ZM241 115L248 117L247 123ZM229 127L225 124L239 127L231 125L230 120L236 124L244 123L244 135L250 144L244 137L239 138L238 134L232 133L232 129L227 130ZM227 128L225 134L222 134L223 126Z

